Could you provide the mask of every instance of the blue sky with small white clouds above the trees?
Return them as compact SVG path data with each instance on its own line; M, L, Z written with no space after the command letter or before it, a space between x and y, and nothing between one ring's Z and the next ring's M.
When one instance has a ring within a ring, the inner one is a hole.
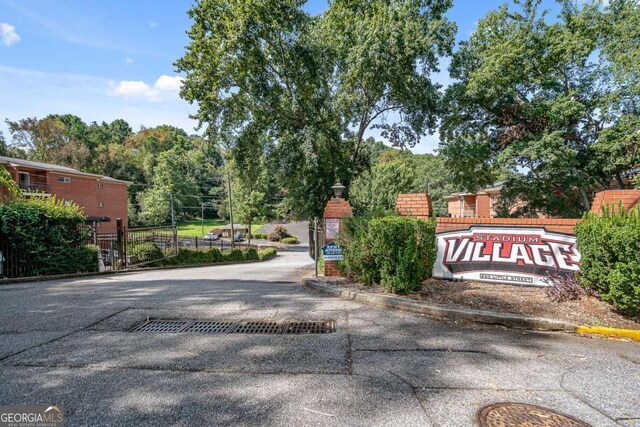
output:
M458 40L503 2L454 0L447 16L458 24ZM0 0L0 131L9 139L5 118L71 113L86 122L123 118L134 130L171 124L193 132L196 107L178 96L172 65L188 44L191 4ZM318 14L327 2L305 7ZM435 79L446 85L446 69ZM437 143L427 136L413 151L432 152Z

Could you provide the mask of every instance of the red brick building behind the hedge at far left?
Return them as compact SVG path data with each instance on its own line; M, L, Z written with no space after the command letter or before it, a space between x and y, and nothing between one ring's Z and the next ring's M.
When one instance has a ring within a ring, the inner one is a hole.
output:
M4 156L0 156L0 164L27 197L55 195L81 206L87 218L109 218L98 222L100 233L115 233L116 218L128 224L127 189L131 182Z

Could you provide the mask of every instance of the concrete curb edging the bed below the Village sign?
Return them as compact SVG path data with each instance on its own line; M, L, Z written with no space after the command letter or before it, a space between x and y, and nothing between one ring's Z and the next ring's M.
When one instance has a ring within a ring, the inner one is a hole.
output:
M520 316L517 314L499 313L495 311L454 309L435 304L425 304L401 297L354 291L342 288L336 284L322 283L317 279L303 279L302 283L305 287L326 295L337 296L378 307L394 308L413 313L425 314L435 319L503 325L510 328L533 329L537 331L574 332L576 330L576 325L555 319Z

